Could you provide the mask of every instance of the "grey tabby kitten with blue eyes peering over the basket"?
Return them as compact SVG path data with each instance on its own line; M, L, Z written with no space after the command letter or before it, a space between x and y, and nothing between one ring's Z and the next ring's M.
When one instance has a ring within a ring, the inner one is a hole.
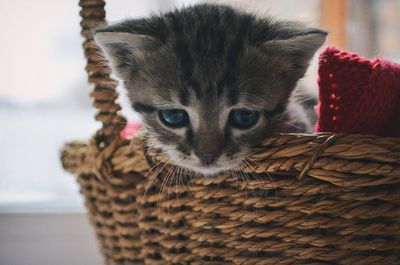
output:
M325 31L200 4L98 29L149 138L171 161L214 175L263 139L307 132L291 95Z

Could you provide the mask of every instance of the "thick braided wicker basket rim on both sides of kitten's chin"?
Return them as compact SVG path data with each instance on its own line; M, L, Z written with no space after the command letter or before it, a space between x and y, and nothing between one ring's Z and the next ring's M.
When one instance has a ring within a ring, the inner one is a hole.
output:
M132 140L115 139L105 148L94 138L69 143L61 152L63 166L73 174L95 174L104 180L115 172L145 175L157 163L168 164L156 149L146 149L144 139L142 132ZM342 187L390 184L400 181L399 150L400 138L393 137L280 134L267 138L250 155L254 163L240 172L286 174L299 181L311 177Z

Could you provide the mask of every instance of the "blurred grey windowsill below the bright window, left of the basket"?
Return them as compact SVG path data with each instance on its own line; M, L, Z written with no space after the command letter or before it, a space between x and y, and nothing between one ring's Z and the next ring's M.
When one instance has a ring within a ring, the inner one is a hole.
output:
M0 264L102 264L85 214L0 214Z

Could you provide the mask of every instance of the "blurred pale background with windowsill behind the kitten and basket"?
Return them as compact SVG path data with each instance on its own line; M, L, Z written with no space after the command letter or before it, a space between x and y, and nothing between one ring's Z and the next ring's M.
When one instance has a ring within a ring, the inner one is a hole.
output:
M107 18L196 2L110 0ZM400 62L399 0L218 2L320 26L330 32L329 45ZM100 264L79 188L59 161L63 143L88 139L100 126L89 98L78 3L0 3L0 265ZM316 71L314 60L301 83L313 96ZM135 119L126 99L120 100L124 114Z

